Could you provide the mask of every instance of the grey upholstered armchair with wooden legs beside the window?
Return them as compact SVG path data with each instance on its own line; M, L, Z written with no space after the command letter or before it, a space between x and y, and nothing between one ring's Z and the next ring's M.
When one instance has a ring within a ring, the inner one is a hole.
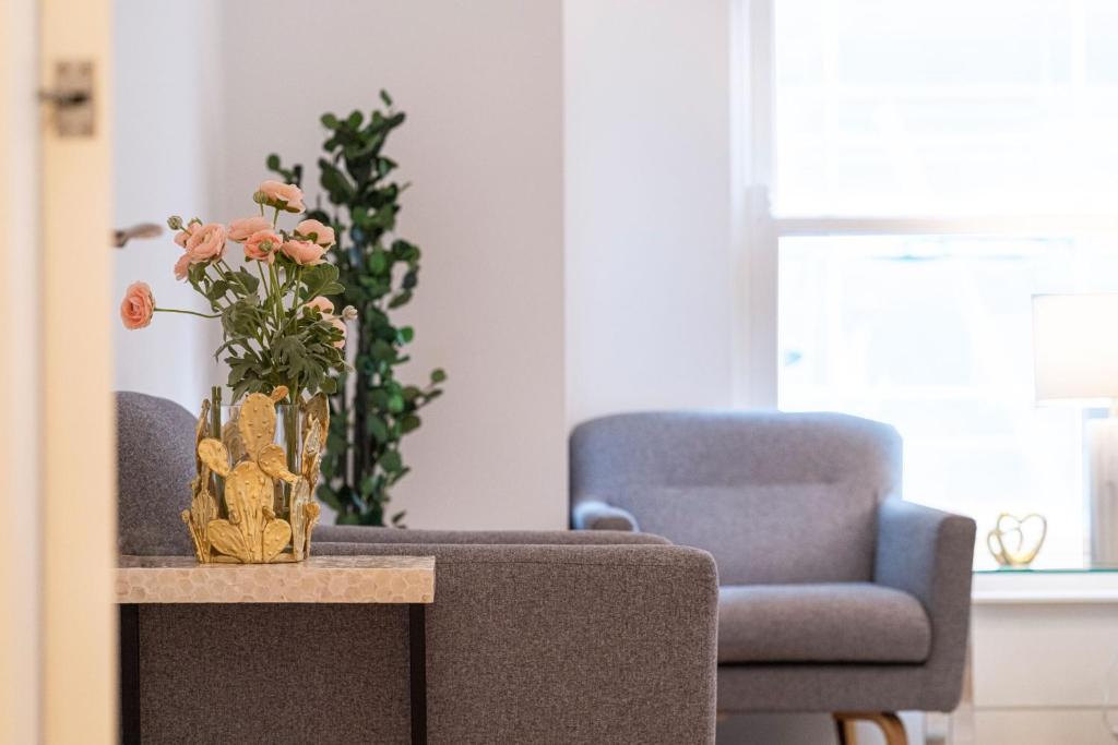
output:
M575 430L570 469L575 527L714 555L720 713L957 705L975 525L901 502L891 427L831 413L620 414Z

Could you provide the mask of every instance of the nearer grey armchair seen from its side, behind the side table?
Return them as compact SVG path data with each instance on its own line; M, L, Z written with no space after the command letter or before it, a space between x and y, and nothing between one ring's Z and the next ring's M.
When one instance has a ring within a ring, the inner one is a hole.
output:
M120 551L191 554L179 512L193 417L139 393L116 401ZM606 532L321 526L314 539L322 555L436 557L433 745L713 743L718 585L705 552ZM198 629L235 676L199 663ZM406 743L406 630L399 605L142 605L143 742Z

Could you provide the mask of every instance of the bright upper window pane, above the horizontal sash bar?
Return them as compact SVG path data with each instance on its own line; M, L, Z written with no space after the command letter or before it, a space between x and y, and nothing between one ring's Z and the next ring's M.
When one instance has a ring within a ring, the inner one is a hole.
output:
M1118 2L774 4L776 213L1118 203Z

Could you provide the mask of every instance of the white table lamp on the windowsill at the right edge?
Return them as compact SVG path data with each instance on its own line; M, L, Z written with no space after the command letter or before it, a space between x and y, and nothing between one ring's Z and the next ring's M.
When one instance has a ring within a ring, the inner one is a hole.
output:
M1118 564L1118 295L1033 297L1038 401L1106 400L1108 419L1088 422L1092 564Z

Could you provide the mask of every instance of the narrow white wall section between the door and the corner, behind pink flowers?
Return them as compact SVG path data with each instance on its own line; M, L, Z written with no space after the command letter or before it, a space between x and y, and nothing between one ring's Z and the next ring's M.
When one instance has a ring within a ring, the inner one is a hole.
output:
M171 214L210 214L215 178L217 45L214 0L115 0L113 87L113 220L165 226ZM106 250L108 242L106 238ZM116 251L113 296L140 279L157 304L205 309L172 267L181 255L171 235ZM141 391L198 408L217 374L216 322L159 314L141 331L114 319L116 390Z

